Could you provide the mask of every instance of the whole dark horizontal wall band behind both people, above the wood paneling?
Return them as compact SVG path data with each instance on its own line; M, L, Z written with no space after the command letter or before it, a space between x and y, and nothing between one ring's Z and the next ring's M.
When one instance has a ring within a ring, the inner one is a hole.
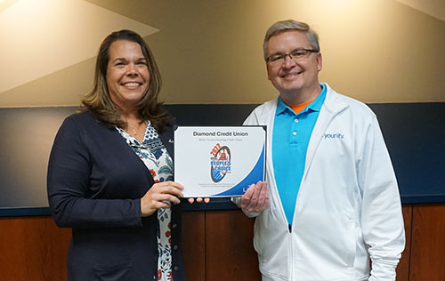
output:
M247 105L166 105L179 125L240 125ZM445 103L370 104L384 133L403 203L445 202ZM49 214L46 166L54 136L76 108L0 108L0 216ZM186 210L236 209L227 198Z

